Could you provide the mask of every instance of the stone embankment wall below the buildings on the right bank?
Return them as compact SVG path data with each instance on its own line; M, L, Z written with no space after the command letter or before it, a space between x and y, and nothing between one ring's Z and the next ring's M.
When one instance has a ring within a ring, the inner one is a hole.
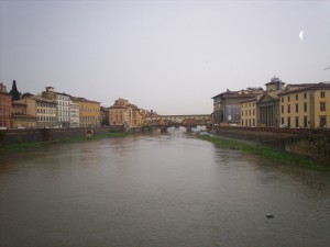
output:
M217 135L255 142L308 156L330 166L330 132L308 128L223 127L216 126Z

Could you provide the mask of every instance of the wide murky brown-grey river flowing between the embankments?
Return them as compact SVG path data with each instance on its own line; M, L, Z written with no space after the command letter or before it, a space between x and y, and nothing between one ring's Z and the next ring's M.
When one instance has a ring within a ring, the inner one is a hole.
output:
M2 155L0 197L1 247L330 246L329 172L183 130Z

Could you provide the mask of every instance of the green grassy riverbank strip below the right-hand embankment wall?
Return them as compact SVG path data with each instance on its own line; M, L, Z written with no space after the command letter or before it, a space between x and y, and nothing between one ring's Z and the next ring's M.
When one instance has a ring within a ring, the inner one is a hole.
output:
M277 149L266 145L261 145L257 143L250 143L232 138L223 138L215 135L196 135L199 139L208 141L213 143L217 147L238 149L249 154L260 155L264 158L270 158L273 160L292 164L295 166L304 167L307 169L319 170L319 171L330 171L330 167L326 167L312 160L309 157L296 155L288 153L283 149Z

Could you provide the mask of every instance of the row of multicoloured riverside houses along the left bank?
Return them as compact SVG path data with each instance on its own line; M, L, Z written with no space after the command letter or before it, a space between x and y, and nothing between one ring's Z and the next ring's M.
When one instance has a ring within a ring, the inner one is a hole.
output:
M12 100L0 83L0 127L4 128L59 128L90 127L109 124L141 126L148 112L128 100L116 100L110 108L85 98L56 92L53 87L37 96Z

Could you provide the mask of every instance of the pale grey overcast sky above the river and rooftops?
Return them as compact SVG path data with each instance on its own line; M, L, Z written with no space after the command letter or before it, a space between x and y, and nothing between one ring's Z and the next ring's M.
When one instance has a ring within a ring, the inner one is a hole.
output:
M209 114L227 89L330 81L329 66L330 1L0 0L9 90Z

